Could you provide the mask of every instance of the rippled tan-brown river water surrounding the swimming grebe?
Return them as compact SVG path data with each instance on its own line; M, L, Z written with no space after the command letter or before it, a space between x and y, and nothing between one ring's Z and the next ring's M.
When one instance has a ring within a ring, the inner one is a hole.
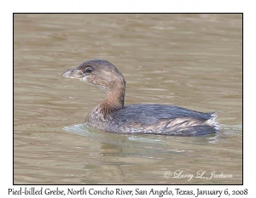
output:
M15 14L15 184L241 184L241 14ZM218 134L106 133L84 119L105 96L62 78L108 59L125 105L221 111ZM166 171L232 178L165 178Z

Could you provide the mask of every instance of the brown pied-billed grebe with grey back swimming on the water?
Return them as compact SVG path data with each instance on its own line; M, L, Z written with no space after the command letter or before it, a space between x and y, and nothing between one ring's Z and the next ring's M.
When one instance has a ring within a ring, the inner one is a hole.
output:
M85 61L64 77L78 78L106 91L106 98L87 116L92 127L112 133L150 133L194 136L216 133L216 113L201 113L173 105L135 104L124 106L125 78L104 59Z

